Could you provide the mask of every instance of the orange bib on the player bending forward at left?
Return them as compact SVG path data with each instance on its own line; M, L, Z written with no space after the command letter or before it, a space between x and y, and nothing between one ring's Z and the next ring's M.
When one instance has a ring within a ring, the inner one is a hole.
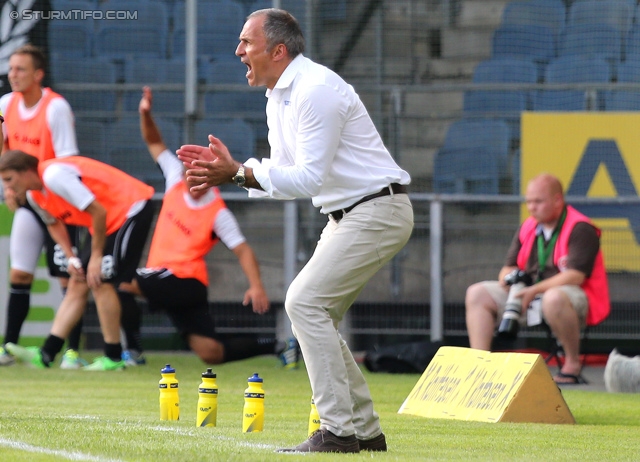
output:
M136 202L151 199L153 188L121 170L94 159L70 156L40 162L40 178L52 164L71 164L80 171L80 180L93 193L107 211L107 235L120 229L127 220L129 209ZM42 191L31 191L35 202L53 217L70 225L86 226L93 234L91 215L77 209L46 186Z

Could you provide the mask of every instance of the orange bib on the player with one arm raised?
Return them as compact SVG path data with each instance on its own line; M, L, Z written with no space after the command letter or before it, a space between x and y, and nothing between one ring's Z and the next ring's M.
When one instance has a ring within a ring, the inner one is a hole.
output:
M209 284L204 257L219 241L212 239L216 216L226 208L217 189L209 204L190 208L184 181L165 192L158 222L149 248L148 268L167 268L179 278L194 278Z

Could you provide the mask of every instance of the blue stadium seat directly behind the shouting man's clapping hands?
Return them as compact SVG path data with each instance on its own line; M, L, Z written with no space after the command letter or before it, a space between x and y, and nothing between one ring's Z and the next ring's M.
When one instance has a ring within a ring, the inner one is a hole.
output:
M198 120L194 127L194 143L207 145L209 135L220 138L236 159L255 156L256 135L244 120L218 117Z

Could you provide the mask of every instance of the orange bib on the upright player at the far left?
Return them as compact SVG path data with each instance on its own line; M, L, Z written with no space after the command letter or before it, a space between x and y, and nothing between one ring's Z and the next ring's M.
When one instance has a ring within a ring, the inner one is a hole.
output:
M9 149L19 149L41 161L53 159L56 156L51 130L47 123L47 107L55 98L62 98L62 96L50 88L44 88L35 116L32 119L23 120L20 118L18 107L24 98L22 93L13 93L4 121Z

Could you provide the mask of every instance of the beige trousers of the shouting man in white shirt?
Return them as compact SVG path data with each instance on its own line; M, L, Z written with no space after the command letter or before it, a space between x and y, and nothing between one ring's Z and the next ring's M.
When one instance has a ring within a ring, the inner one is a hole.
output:
M369 387L338 323L367 281L409 240L413 208L406 194L358 205L329 219L309 262L289 286L285 309L302 351L321 426L338 436L381 433Z

